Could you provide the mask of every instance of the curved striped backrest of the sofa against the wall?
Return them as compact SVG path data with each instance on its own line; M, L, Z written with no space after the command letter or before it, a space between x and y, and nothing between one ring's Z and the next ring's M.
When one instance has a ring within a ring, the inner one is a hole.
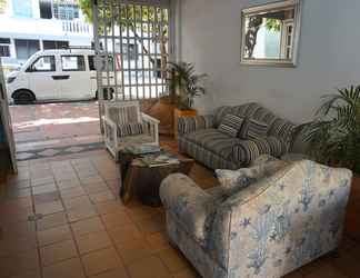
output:
M249 102L241 106L223 106L214 112L214 123L218 127L224 116L228 113L238 115L240 117L253 118L259 121L263 121L269 126L269 136L278 138L288 138L296 127L292 122L277 117L267 108L260 106L257 102Z

